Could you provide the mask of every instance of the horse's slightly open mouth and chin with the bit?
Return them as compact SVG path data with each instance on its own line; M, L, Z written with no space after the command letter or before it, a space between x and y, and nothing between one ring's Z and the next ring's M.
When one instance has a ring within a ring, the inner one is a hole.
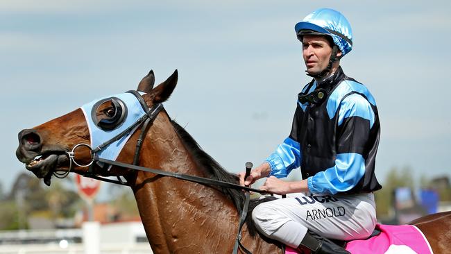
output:
M46 185L50 185L53 172L60 171L59 169L64 166L64 162L67 162L67 155L44 153L36 156L31 162L26 163L25 167L32 171L37 178L44 178Z

